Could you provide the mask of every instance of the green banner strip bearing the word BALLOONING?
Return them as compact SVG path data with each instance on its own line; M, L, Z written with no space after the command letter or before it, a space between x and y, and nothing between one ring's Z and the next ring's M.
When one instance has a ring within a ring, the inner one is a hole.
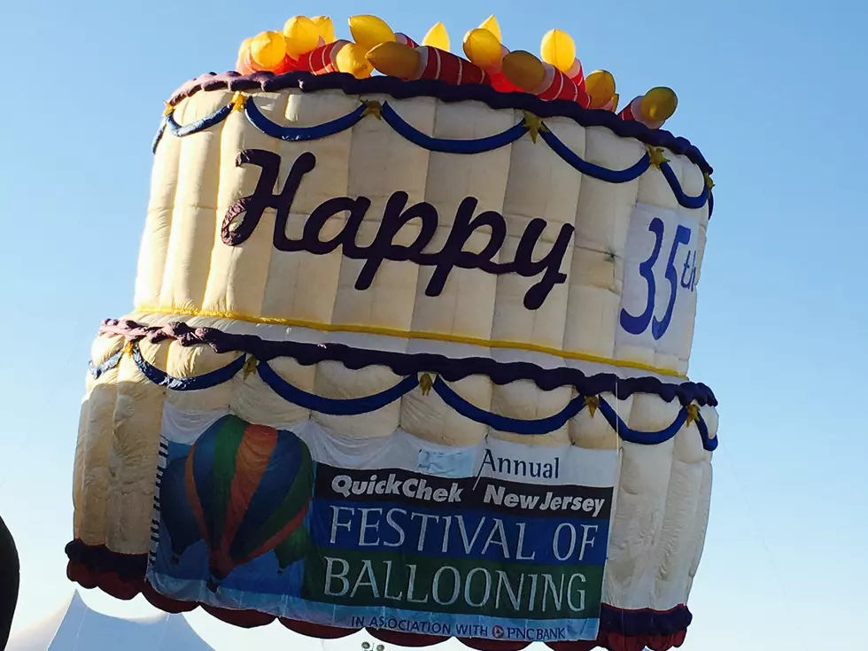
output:
M537 565L470 558L314 548L302 598L513 619L581 619L600 612L603 566Z

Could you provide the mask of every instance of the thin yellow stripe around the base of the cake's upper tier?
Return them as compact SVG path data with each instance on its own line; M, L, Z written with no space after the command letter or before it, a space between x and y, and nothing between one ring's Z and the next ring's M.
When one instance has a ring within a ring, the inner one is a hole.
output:
M380 328L378 326L354 325L349 323L319 323L305 321L303 319L284 319L275 316L254 316L252 314L242 314L238 312L222 312L220 310L205 310L205 309L190 309L185 307L159 307L159 306L137 306L136 313L139 314L178 314L179 316L202 316L211 319L231 319L234 321L243 321L248 323L260 323L262 325L280 325L289 326L291 328L307 328L312 330L320 330L322 332L353 332L356 334L365 335L381 335L383 337L399 337L401 339L424 339L427 341L442 341L452 344L467 344L482 346L484 348L501 348L517 351L530 351L532 353L545 353L562 357L568 360L588 361L596 364L608 364L620 368L636 368L638 370L648 371L660 376L686 378L683 373L672 370L671 368L657 368L651 364L644 364L640 361L631 360L613 360L608 357L592 355L589 353L580 353L579 351L564 351L559 348L552 348L545 345L528 344L517 341L496 341L491 339L480 339L478 337L461 337L460 335L447 335L440 332L424 332L421 330L399 330L393 328Z

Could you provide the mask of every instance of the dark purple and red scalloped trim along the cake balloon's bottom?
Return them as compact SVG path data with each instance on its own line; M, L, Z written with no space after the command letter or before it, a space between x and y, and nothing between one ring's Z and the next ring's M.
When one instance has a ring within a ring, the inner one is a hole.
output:
M256 628L278 619L293 632L317 639L337 639L352 635L358 629L337 628L322 624L308 624L293 619L279 618L255 610L215 608L193 601L175 601L157 593L145 579L146 554L119 554L105 546L88 546L74 540L66 546L69 562L66 577L84 588L99 588L115 599L128 601L142 594L151 604L167 613L184 613L203 608L222 622L241 628ZM553 651L668 651L680 647L693 616L685 605L667 611L623 610L603 604L600 632L594 641L551 642L546 646ZM644 629L644 630L641 630ZM366 629L376 639L401 647L430 647L446 641L446 637L406 633L380 629ZM477 651L520 651L531 642L497 639L458 638L464 646Z

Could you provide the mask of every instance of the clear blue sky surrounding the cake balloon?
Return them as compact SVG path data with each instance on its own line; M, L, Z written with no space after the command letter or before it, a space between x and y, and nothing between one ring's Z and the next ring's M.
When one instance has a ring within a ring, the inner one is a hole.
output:
M453 50L492 12L513 50L562 27L586 70L616 75L622 102L678 91L667 128L716 169L691 376L721 415L683 648L868 649L864 0L4 3L0 513L22 556L16 628L73 588L63 549L89 345L131 307L162 100L293 14L327 13L345 35L361 12L417 38L443 20ZM278 625L190 622L221 651L322 647Z

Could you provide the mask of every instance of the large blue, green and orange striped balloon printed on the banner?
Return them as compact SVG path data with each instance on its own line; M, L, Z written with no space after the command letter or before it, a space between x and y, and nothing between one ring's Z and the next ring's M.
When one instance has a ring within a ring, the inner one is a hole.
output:
M213 592L263 554L275 551L282 568L303 555L313 485L310 451L291 431L234 415L205 430L187 457L186 489L208 544Z

